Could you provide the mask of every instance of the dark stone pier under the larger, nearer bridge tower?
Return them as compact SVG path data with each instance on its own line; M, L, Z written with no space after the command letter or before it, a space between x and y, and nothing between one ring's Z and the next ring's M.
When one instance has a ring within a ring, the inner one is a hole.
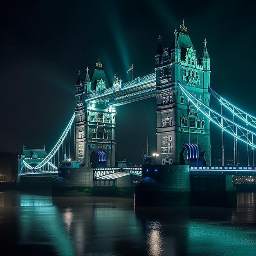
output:
M231 175L191 175L186 165L142 166L136 206L198 205L236 207Z

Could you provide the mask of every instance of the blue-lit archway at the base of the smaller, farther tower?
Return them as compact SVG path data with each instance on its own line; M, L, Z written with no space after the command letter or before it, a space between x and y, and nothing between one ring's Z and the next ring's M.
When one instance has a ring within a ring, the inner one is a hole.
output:
M110 166L110 154L103 148L94 148L89 154L88 163L91 168Z

